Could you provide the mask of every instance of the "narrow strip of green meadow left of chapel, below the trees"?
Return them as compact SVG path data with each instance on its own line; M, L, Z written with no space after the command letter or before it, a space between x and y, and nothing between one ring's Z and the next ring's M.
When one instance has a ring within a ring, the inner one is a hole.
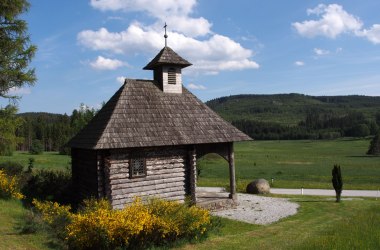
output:
M71 167L71 158L67 155L60 155L58 152L44 152L40 155L32 155L24 151L16 151L12 156L0 156L0 162L15 161L25 167L28 166L29 158L34 158L36 169L62 170Z

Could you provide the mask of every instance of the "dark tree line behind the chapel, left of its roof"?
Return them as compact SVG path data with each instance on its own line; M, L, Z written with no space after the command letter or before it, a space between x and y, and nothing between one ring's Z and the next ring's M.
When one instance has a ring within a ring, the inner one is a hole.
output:
M67 154L65 144L96 112L81 104L71 116L49 113L17 115L17 108L9 105L0 110L0 155L10 155L16 149L31 151L36 145L42 145L44 151Z

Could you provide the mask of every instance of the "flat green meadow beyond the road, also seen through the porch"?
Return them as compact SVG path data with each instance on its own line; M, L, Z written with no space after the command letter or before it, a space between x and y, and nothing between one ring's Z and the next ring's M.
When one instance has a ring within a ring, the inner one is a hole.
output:
M253 141L235 144L238 190L257 178L273 187L330 189L334 164L342 168L344 189L380 188L380 157L367 156L369 139ZM206 155L198 162L199 186L228 186L227 162Z

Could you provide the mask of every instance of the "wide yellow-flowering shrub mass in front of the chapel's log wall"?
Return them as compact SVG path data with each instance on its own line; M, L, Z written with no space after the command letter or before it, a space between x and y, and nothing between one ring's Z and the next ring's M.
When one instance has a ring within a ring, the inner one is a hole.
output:
M143 248L179 238L197 238L211 225L210 214L198 207L140 198L122 210L107 200L86 200L78 213L53 202L33 201L49 225L61 222L64 239L74 249ZM62 220L64 218L64 220Z

